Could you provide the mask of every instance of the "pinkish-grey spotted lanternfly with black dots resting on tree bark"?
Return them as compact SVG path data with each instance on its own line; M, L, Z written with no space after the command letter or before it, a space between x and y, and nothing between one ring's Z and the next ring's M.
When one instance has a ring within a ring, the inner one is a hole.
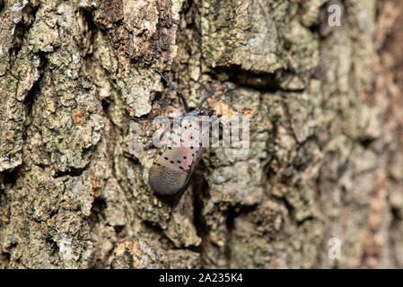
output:
M162 132L160 140L167 132L170 132L169 140L171 141L162 145L162 149L153 161L148 175L148 184L156 194L173 195L187 186L188 179L205 151L202 136L206 135L206 126L198 119L202 116L212 117L214 115L213 109L202 109L203 104L213 93L201 83L207 94L196 108L189 109L183 93L161 73L157 73L178 92L186 111L185 115L179 117L178 123L180 125L177 126L179 128L174 128L171 124L168 129ZM173 119L173 117L170 118ZM138 120L142 119L153 120L153 117L138 118Z

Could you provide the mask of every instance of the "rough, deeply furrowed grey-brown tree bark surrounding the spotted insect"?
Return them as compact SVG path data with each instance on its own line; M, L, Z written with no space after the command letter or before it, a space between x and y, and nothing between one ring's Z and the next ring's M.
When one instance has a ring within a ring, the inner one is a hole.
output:
M402 17L402 0L0 0L0 267L403 267ZM210 107L251 120L247 157L208 149L169 199L132 120L180 108L153 69L193 105L200 74L231 84Z

